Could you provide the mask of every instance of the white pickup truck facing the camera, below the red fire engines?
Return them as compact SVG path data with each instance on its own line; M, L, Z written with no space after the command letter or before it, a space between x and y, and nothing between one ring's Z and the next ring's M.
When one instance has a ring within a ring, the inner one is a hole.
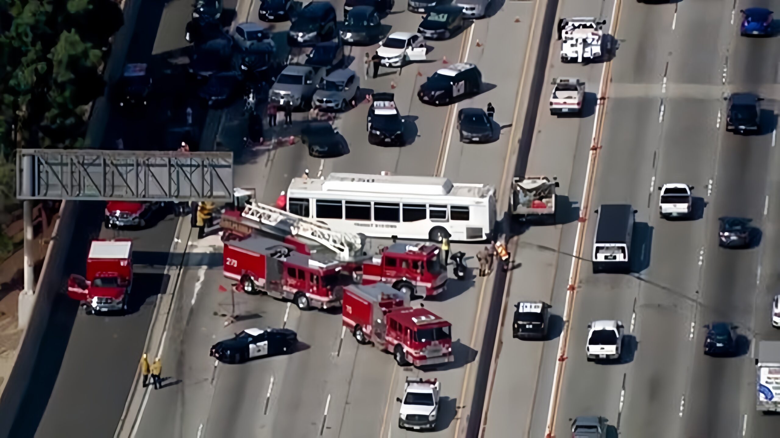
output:
M422 377L406 377L398 426L401 429L433 429L438 415L438 399L441 382Z

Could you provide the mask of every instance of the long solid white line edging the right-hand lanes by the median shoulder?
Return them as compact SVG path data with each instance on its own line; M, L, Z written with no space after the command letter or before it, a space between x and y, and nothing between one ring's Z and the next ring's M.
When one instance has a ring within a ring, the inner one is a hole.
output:
M618 6L618 3L620 1L621 0L615 0L615 2L612 5L612 18L610 19L612 21L612 23L610 23L610 26L614 26L615 25L615 12L617 12L617 6ZM598 94L596 94L597 101L596 101L596 111L594 111L595 118L594 118L594 123L593 123L593 133L590 135L590 145L591 146L594 146L594 141L596 140L596 134L597 134L597 129L598 129L598 109L599 109L599 107L601 105L604 104L603 101L599 101L598 100L598 97L601 96L601 93L604 91L604 88L603 88L604 84L605 84L604 77L605 77L605 75L607 73L607 65L608 64L605 63L601 67L601 79L599 79ZM582 199L580 200L580 203L585 202L585 196L587 196L588 180L590 179L590 170L591 170L590 169L590 163L591 163L591 161L593 161L592 157L593 157L594 154L596 154L596 150L591 150L590 154L588 155L587 168L585 170L585 179L584 179L585 184L583 185L583 196L582 196ZM588 207L590 208L590 205L588 205ZM586 214L585 217L587 217L587 212L580 212L580 214L583 214L583 213L585 213ZM574 237L574 249L572 250L572 253L575 256L576 256L577 246L580 243L580 238L582 238L581 237L582 234L583 234L583 222L578 221L577 222L577 231L576 231L576 235ZM569 307L571 306L571 304L573 304L573 303L571 303L571 300L569 299L571 297L571 295L572 295L572 291L569 291L569 285L572 284L572 281L574 281L574 267L575 267L576 263L577 263L577 259L576 259L576 257L573 257L572 258L572 266L571 266L571 268L569 270L569 282L566 284L566 306L564 306L564 309L563 309L563 315L564 316L569 314ZM564 321L563 325L564 325L564 329L563 330L566 330L566 321ZM550 407L548 408L548 414L547 414L547 427L546 427L546 429L547 429L546 433L547 434L553 433L553 431L551 430L552 426L553 426L552 422L555 419L555 409L557 408L557 405L556 405L557 397L555 397L555 394L558 391L558 386L560 385L559 380L561 379L561 377L559 377L559 375L561 373L561 364L562 364L562 362L560 360L558 360L558 359L560 359L562 357L562 355L565 353L565 351L563 351L563 348L566 348L566 344L568 344L568 339L566 340L566 342L564 342L564 340L558 341L558 352L557 352L557 355L555 356L556 357L556 359L555 359L555 372L553 373L552 390L551 390L551 393L550 393L551 394L551 397L550 397Z

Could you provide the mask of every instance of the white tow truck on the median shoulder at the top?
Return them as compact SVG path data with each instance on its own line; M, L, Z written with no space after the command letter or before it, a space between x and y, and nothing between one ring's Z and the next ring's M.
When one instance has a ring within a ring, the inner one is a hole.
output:
M594 18L562 19L558 25L562 38L561 62L583 62L601 57L604 37L601 29L606 23L606 20Z

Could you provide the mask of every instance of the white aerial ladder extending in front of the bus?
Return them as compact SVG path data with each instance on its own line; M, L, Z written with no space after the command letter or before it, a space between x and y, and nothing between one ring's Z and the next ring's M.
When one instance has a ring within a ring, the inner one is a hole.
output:
M285 210L248 200L241 216L260 224L288 231L290 235L309 238L331 249L339 260L350 260L363 251L365 236L349 232L336 231L325 224L306 217L296 216ZM255 227L258 228L258 227Z

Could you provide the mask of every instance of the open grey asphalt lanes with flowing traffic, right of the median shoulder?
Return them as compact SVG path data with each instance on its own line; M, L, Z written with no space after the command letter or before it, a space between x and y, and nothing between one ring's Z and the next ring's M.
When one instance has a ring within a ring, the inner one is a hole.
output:
M605 416L623 436L632 437L776 434L776 418L755 418L750 351L754 337L777 336L768 323L776 268L765 264L759 271L761 260L771 260L777 228L776 210L771 210L776 178L770 173L777 160L772 134L776 97L762 102L768 110L764 135L736 136L725 132L722 94L771 89L778 49L772 39L739 37L739 9L749 5L738 3L734 23L732 2L619 5L615 34L621 45L612 61L591 208L583 212L588 218L584 260L574 284L560 394L551 407L555 436L567 436L578 415ZM777 2L750 4L757 5L778 7ZM592 12L582 13L597 12L594 5ZM578 76L585 74L587 69ZM666 182L695 186L696 220L658 217L657 187ZM571 193L569 185L570 196L579 193ZM602 203L630 203L638 210L633 274L591 273L593 210ZM719 248L718 217L726 215L753 218L766 231L760 245ZM558 270L568 272L570 263L566 260ZM558 274L555 310L561 311L556 304L566 294L566 282ZM613 319L626 327L622 357L587 362L587 324ZM739 326L738 357L703 355L702 326L714 321ZM555 366L555 357L544 354L548 349L545 345L540 376ZM537 394L545 394L538 389ZM495 404L494 399L491 409ZM535 420L546 411L546 403L537 403L529 436L544 433Z

